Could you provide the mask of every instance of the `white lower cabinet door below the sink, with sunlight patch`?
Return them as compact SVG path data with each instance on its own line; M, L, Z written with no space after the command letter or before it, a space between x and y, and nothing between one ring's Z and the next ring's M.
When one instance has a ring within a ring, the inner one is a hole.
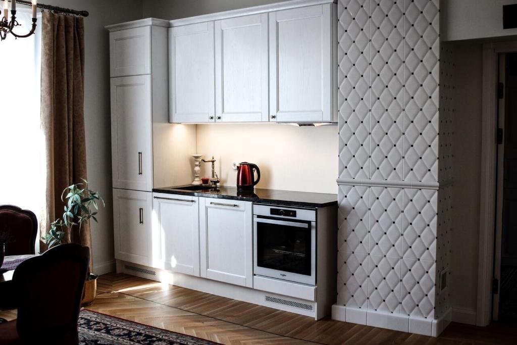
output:
M196 197L154 194L154 241L160 267L199 277L199 205Z

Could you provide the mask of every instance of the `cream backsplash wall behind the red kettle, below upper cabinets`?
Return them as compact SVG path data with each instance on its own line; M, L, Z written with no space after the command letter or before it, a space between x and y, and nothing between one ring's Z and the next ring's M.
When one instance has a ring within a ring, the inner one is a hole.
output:
M257 188L337 193L338 126L197 125L197 153L217 159L221 184L236 185L232 162L257 164ZM203 163L203 176L210 164Z

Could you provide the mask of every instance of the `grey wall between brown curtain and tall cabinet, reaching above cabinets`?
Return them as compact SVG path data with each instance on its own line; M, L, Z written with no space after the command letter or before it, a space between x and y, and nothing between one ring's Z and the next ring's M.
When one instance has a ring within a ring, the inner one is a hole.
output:
M99 223L92 222L93 256L94 266L96 266L94 271L103 273L101 270L112 264L114 260L110 49L108 31L104 26L142 18L142 1L47 0L45 4L89 11L89 17L84 19L86 162L91 187L99 190L106 201L106 207L99 211L97 217ZM107 266L102 266L104 264Z

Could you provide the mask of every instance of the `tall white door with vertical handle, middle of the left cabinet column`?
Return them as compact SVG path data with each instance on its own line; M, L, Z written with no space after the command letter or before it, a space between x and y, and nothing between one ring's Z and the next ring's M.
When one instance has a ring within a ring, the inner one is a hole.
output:
M111 79L113 187L153 189L149 75Z

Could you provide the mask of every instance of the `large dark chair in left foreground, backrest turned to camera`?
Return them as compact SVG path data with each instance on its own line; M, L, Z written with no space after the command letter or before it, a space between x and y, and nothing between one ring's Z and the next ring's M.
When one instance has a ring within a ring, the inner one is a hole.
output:
M77 344L89 256L64 244L22 262L11 281L18 319L0 323L0 344Z

